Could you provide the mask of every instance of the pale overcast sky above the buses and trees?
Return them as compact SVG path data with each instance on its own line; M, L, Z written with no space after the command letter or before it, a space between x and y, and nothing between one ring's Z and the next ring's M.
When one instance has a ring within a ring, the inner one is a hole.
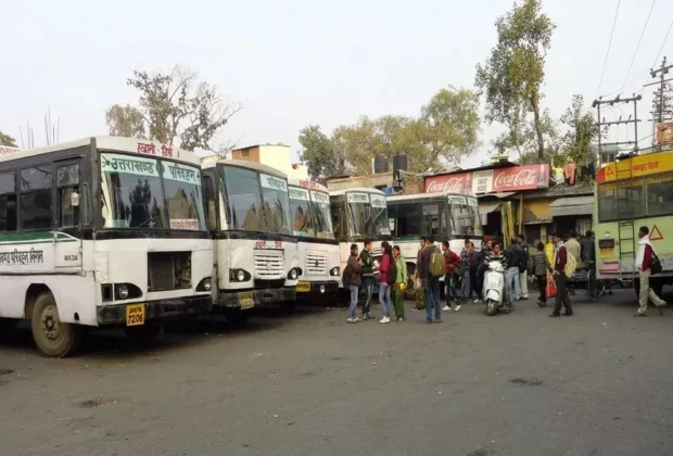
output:
M320 125L330 134L363 115L414 116L441 88L472 88L475 65L496 43L493 24L511 4L511 0L0 0L0 130L21 145L20 125L28 122L35 145L43 145L49 107L52 123L60 119L61 142L105 135L105 110L138 100L126 86L134 68L152 72L181 63L243 105L220 140L240 145L283 142L296 151L299 131L306 125ZM554 117L570 105L573 93L582 93L591 106L597 94L626 97L642 91L638 115L649 118L653 87L642 90L642 86L653 80L649 69L673 21L673 2L655 0L644 27L651 4L650 0L543 1L557 24L543 88L543 106ZM673 61L673 33L657 65L663 55ZM633 104L605 111L607 119L626 118ZM483 145L462 166L484 161L490 140L500 130L497 124L482 124ZM649 135L651 125L643 122L639 137ZM633 126L610 131L610 140L633 138ZM650 143L648 138L640 145Z

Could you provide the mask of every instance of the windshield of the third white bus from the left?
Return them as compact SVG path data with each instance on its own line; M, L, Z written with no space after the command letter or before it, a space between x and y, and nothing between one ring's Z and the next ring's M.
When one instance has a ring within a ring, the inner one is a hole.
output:
M290 216L294 236L334 239L328 193L290 187Z

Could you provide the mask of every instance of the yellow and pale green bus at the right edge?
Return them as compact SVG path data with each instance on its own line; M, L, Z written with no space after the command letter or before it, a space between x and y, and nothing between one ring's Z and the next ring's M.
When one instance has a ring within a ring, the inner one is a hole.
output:
M673 152L636 155L596 175L594 231L598 280L634 280L638 229L647 226L663 270L652 276L659 293L673 284Z

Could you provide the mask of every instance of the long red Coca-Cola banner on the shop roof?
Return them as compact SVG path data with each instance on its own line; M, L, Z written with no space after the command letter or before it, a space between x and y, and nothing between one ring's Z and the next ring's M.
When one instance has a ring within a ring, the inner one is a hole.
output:
M549 187L549 165L452 173L426 178L426 192L497 193Z

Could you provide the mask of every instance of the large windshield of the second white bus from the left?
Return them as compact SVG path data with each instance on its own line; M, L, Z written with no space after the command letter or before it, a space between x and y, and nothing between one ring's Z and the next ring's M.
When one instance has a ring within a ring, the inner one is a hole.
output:
M238 166L223 166L229 229L291 235L288 182Z

